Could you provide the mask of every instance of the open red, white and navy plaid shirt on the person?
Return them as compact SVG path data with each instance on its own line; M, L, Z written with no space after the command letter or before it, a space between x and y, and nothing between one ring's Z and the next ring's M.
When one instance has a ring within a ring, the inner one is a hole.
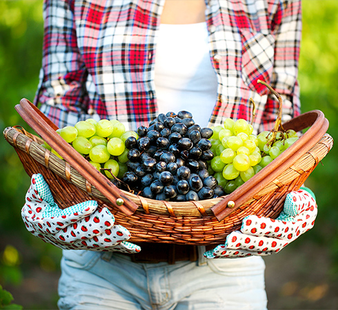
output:
M45 0L43 65L34 100L59 127L117 118L135 130L157 116L156 42L164 0ZM206 0L218 96L209 125L226 117L270 129L284 97L284 121L299 115L300 0ZM182 107L184 110L184 107ZM193 114L193 111L190 111Z

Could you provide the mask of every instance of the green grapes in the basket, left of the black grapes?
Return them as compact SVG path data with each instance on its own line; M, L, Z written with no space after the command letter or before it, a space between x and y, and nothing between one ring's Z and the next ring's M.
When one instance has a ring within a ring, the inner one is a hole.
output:
M128 149L125 141L130 136L138 138L133 131L126 131L117 120L88 118L74 126L59 128L57 133L108 178L121 178L128 170ZM50 148L46 143L45 147ZM62 158L54 149L51 152Z

